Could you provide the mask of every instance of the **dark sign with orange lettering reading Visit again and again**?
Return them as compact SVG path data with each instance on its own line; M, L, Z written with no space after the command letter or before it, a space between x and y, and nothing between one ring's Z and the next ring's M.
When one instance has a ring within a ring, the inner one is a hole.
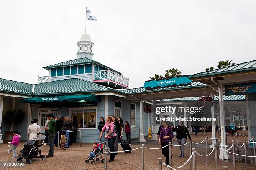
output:
M256 92L256 82L225 85L225 95L245 95Z

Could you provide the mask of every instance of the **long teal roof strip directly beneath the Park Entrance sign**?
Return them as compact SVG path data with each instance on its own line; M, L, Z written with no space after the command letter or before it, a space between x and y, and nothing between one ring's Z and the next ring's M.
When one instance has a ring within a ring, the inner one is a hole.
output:
M150 93L150 92L158 92L158 91L165 91L165 90L179 90L184 88L197 88L197 87L208 87L209 85L205 85L201 82L191 82L191 85L183 85L183 86L175 86L175 87L164 87L164 88L157 88L157 89L151 89L146 90L146 88L133 88L133 89L125 89L125 90L119 90L121 92L124 92L125 94L137 94L137 93Z

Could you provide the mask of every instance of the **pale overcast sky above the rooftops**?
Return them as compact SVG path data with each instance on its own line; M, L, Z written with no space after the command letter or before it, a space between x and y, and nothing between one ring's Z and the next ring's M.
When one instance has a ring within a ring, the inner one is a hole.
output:
M256 59L255 0L1 0L0 78L37 83L42 67L76 59L86 6L93 60L130 88L172 67L187 75Z

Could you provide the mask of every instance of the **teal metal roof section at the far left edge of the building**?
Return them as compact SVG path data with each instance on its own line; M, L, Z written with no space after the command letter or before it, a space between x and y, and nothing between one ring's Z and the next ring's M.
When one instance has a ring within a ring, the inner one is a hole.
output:
M32 85L0 78L0 91L26 95L31 93Z

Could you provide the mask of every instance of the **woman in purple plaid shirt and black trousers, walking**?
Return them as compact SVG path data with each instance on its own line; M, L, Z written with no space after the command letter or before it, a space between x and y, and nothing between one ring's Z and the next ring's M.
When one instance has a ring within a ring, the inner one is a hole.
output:
M172 142L173 132L172 128L169 127L166 122L162 122L163 127L161 127L160 134L159 134L159 141L158 144L162 143L162 147L169 145L169 142ZM165 156L165 163L170 165L169 158L169 147L162 148L162 154Z

